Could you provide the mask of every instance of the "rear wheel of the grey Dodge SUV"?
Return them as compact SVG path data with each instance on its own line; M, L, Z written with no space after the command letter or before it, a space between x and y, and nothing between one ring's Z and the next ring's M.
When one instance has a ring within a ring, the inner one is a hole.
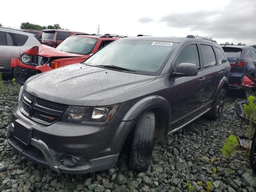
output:
M225 98L226 98L226 92L224 89L221 89L220 93L218 94L218 97L215 100L214 106L207 114L208 118L216 120L220 117L220 114L225 104Z

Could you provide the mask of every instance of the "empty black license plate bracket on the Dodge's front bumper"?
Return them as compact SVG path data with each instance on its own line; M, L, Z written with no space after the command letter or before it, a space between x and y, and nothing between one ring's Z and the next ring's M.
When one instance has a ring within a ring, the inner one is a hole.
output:
M32 138L32 127L20 120L14 121L13 136L22 143L29 145Z

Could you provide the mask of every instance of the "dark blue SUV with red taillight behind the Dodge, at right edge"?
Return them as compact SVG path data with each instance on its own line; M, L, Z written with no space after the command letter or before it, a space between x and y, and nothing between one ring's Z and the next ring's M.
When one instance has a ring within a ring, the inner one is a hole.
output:
M230 88L239 89L244 74L255 78L256 52L251 46L224 46L222 47L230 63ZM247 97L249 91L244 92Z

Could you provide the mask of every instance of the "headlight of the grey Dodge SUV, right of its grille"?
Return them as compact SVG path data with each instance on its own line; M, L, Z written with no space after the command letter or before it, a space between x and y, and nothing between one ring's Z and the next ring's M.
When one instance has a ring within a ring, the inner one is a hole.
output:
M120 104L104 107L69 106L60 121L75 124L105 124L116 114Z

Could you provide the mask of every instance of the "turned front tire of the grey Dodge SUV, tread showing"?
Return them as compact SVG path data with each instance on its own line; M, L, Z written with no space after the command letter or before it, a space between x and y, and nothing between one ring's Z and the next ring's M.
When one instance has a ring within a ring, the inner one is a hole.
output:
M153 112L144 113L134 128L129 168L146 171L150 165L154 147L156 119Z

